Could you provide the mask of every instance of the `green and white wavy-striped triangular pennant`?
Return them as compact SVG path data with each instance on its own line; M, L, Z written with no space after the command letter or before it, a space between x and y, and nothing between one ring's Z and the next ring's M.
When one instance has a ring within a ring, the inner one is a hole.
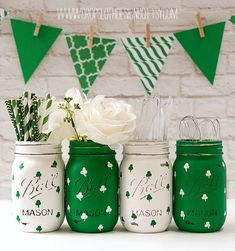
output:
M152 37L149 48L146 47L145 38L122 38L121 40L147 94L151 95L174 38Z

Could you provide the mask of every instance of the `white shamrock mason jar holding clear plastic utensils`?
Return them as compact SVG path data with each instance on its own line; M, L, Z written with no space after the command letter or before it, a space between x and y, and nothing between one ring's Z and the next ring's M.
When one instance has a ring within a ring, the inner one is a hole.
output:
M120 170L120 218L132 232L162 232L172 218L172 166L167 142L130 142Z

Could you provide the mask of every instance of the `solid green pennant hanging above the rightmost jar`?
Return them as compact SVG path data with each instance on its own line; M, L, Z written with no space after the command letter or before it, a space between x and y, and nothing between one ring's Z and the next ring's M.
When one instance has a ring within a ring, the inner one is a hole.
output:
M213 85L225 22L204 26L205 37L198 28L174 33L185 51Z

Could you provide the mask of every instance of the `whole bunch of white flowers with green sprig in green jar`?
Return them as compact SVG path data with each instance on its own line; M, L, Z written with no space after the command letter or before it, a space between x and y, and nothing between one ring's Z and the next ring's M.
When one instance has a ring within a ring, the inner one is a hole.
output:
M102 95L88 99L72 88L51 113L44 133L53 142L92 140L116 148L131 139L135 128L136 116L131 105Z

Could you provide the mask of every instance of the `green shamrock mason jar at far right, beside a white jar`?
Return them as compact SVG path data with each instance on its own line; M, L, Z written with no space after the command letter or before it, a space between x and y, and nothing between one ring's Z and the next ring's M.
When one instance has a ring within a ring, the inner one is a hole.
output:
M189 232L214 232L226 218L222 141L178 140L174 162L174 220Z

